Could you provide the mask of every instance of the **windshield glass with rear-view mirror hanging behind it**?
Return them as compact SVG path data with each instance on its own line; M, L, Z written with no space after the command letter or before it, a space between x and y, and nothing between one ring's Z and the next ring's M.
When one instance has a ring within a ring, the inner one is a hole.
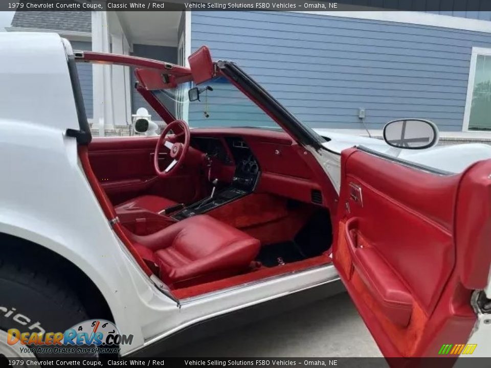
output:
M189 101L188 91L195 86L194 83L183 83L176 88L152 92L176 119L186 121L191 128L281 129L273 119L225 77L217 77L197 85L200 90L203 90L199 95L199 101Z

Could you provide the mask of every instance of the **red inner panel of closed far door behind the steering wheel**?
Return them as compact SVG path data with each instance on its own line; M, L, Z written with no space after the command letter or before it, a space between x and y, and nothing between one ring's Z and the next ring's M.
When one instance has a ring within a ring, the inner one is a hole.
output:
M199 168L183 164L169 178L153 169L153 152L158 137L94 138L89 146L92 169L111 202L116 205L144 194L159 195L190 203L202 196L203 177ZM171 159L162 155L162 168Z

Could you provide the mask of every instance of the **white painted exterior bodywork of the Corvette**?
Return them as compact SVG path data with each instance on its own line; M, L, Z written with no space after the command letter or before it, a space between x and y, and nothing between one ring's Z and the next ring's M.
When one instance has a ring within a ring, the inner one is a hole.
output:
M104 296L119 330L135 336L131 346L121 347L122 355L198 321L338 280L330 264L191 297L176 306L155 287L113 232L81 168L77 142L65 134L68 128L79 128L67 68L70 44L56 34L6 33L0 34L0 50L0 233L51 249L88 275ZM491 158L486 145L397 154L381 140L327 130L319 133L331 139L325 147L332 154L318 158L330 168L328 174L338 189L339 153L356 145L451 172ZM442 155L447 159L441 160ZM43 174L45 170L50 175ZM87 234L97 244L90 251ZM489 288L486 293L491 297ZM491 337L488 327L481 331L481 341Z

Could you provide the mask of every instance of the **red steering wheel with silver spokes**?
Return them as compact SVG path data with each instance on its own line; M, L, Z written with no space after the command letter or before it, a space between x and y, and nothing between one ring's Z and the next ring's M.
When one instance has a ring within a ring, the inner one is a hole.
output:
M175 142L171 142L167 139L167 134L171 130L175 134ZM184 142L179 142L182 140L183 135ZM183 164L184 157L186 156L186 153L188 153L189 141L189 127L186 122L174 120L165 127L160 134L157 146L155 146L155 154L153 155L153 167L155 168L157 175L160 177L169 176ZM162 147L166 147L169 150L170 157L172 158L172 162L164 169L164 171L161 171L159 166L159 154Z

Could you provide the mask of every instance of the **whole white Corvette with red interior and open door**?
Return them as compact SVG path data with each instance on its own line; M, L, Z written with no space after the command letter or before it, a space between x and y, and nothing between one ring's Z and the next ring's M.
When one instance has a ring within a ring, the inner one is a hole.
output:
M488 354L488 146L434 147L420 119L321 136L235 63L188 60L0 35L0 354L94 318L150 354L339 281L386 357ZM76 62L132 67L161 133L92 137Z

